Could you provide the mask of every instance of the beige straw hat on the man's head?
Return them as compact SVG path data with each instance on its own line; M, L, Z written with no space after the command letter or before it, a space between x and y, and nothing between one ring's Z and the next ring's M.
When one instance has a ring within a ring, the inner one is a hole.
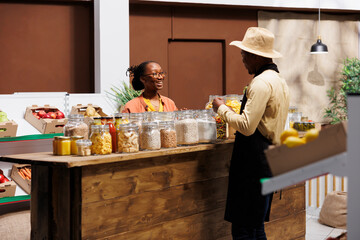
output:
M273 49L274 38L274 34L265 28L250 27L242 41L232 41L230 45L262 57L281 58L281 53Z

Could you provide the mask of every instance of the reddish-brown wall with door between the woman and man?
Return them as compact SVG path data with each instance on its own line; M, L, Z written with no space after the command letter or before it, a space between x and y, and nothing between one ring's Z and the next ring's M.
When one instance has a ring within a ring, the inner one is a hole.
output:
M242 94L251 80L240 49L229 46L251 26L256 10L130 4L130 63L159 62L168 72L162 94L202 109L209 95ZM219 43L220 54L215 47L204 54L209 43Z

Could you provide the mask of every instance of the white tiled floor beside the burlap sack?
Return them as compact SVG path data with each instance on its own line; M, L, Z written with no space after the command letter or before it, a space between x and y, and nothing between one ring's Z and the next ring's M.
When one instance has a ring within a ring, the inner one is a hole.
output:
M318 222L320 209L306 209L306 240L326 240L328 237L337 237L344 229L332 228Z

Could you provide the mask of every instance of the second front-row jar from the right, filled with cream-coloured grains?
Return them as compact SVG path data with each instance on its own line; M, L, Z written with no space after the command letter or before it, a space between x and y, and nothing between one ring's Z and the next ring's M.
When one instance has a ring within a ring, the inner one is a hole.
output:
M198 126L193 112L178 112L175 130L178 145L193 145L199 142Z

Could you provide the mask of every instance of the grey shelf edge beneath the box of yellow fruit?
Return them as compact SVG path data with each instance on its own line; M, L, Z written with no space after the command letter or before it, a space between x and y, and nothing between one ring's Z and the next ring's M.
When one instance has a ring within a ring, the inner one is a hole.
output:
M262 179L262 193L265 195L327 173L345 176L346 164L344 152L272 178Z

